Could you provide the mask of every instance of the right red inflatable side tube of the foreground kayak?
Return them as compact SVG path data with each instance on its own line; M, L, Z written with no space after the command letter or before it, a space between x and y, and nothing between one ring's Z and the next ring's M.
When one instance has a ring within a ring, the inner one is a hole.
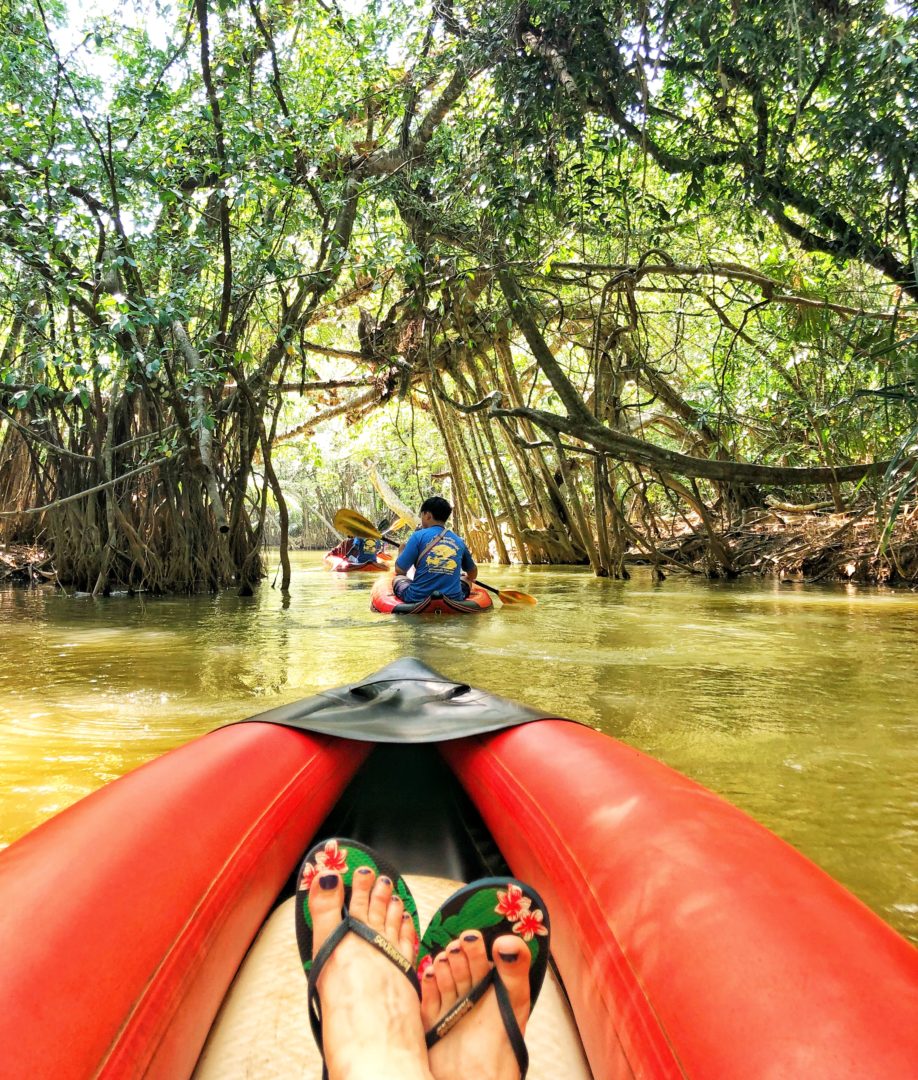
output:
M441 748L545 900L596 1080L914 1076L918 950L747 814L570 721Z

